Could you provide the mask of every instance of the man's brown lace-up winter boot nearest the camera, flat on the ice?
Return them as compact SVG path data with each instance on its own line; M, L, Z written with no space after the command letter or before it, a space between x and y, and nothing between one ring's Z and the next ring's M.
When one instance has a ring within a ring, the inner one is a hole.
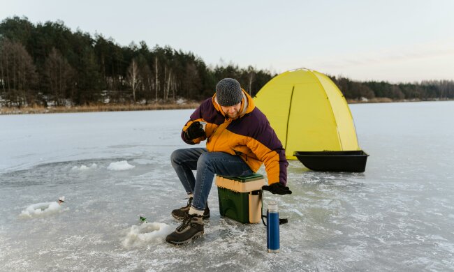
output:
M182 225L166 237L174 245L184 245L203 236L203 218L196 214L187 214Z

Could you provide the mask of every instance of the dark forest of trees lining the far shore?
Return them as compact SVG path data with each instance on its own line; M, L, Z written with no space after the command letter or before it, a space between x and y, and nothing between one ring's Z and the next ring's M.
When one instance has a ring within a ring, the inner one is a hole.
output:
M175 103L203 100L233 77L254 96L276 74L252 66L207 66L192 52L141 41L119 45L64 22L33 24L27 17L0 23L0 105ZM453 99L453 81L414 84L356 82L331 77L348 99Z

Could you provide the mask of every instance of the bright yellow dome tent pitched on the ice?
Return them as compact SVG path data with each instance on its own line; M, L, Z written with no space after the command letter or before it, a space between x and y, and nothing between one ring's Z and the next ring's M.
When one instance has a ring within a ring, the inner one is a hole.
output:
M334 82L321 73L298 69L277 75L258 91L254 101L268 117L289 160L297 159L295 152L323 155L329 151L332 157L340 154L335 151L355 151L350 155L364 155L349 105Z

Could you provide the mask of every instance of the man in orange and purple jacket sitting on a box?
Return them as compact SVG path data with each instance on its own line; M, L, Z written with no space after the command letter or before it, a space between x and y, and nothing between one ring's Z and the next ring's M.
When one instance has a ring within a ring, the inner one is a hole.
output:
M287 160L282 144L268 119L254 106L254 100L237 80L225 78L216 93L205 100L186 123L182 139L187 144L207 140L207 148L178 149L172 166L189 195L188 204L172 211L182 225L166 241L189 243L203 235L203 219L210 217L207 199L214 174L246 176L265 163L269 186L263 190L291 194L286 187ZM192 170L197 170L194 178Z

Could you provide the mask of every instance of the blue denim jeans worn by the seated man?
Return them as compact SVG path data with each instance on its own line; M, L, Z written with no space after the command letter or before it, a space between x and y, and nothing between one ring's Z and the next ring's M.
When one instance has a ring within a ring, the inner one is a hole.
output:
M172 166L183 184L184 190L193 194L191 206L205 210L214 174L222 176L247 176L254 172L239 156L224 152L208 152L207 149L177 149L170 157ZM196 178L192 170L197 170Z

